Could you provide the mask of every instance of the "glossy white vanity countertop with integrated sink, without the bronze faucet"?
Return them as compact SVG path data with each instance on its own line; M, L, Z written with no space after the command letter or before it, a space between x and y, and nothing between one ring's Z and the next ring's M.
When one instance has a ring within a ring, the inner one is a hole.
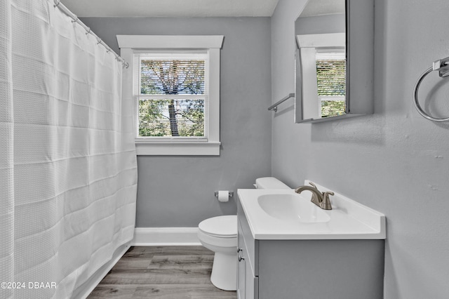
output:
M258 240L385 239L384 214L331 191L335 193L330 197L332 210L323 210L310 201L311 192L239 189L237 211L239 217L244 214L253 239Z

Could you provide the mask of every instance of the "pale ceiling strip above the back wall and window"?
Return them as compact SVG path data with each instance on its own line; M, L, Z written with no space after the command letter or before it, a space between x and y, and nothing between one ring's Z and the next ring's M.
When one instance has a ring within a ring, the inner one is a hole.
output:
M271 17L279 0L62 0L79 17Z

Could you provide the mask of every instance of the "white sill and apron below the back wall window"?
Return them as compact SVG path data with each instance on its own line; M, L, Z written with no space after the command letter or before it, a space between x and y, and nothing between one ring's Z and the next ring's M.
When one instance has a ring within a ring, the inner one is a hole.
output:
M221 142L135 141L138 156L220 156Z

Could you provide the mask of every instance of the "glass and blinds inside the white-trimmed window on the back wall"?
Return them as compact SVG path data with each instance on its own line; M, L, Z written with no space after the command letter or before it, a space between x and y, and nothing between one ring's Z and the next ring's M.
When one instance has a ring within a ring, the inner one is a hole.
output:
M140 59L140 137L207 137L206 60Z

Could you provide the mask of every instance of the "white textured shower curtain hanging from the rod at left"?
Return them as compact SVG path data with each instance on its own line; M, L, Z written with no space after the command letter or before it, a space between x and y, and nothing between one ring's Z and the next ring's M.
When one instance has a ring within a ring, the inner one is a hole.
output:
M53 0L0 1L0 298L70 298L133 238L121 74Z

